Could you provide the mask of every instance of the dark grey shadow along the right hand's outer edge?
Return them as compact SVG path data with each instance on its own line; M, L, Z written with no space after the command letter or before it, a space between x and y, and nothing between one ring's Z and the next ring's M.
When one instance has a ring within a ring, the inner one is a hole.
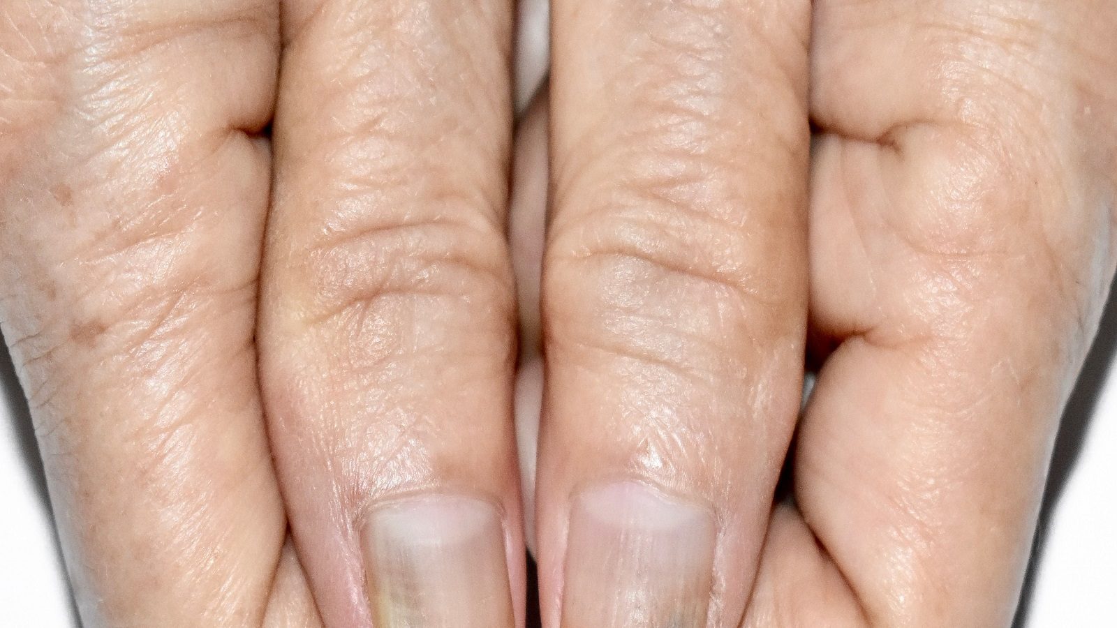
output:
M1109 367L1117 356L1117 282L1114 282L1109 294L1109 303L1106 304L1102 313L1098 336L1094 340L1094 346L1090 348L1090 353L1086 356L1082 372L1078 375L1078 382L1070 393L1070 400L1062 413L1062 422L1059 425L1059 435L1051 455L1051 470L1048 475L1047 487L1043 489L1043 506L1037 526L1035 543L1032 548L1031 561L1028 564L1028 574L1024 578L1020 608L1016 609L1016 618L1012 622L1013 628L1028 626L1028 613L1031 610L1039 565L1043 562L1043 550L1046 549L1051 517L1059 506L1059 498L1067 486L1067 480L1070 479L1075 466L1078 464L1078 456L1086 441L1098 398L1101 396L1109 375Z

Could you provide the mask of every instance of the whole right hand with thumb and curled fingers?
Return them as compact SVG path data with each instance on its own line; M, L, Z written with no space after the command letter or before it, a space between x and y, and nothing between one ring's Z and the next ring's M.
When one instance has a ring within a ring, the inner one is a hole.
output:
M1008 625L1113 276L1117 10L640 7L553 8L547 625Z

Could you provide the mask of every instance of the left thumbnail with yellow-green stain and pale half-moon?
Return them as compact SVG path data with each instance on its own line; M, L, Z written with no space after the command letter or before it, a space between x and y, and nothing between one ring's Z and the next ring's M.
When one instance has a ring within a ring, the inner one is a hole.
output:
M440 495L381 506L369 517L364 554L376 628L515 625L491 504Z

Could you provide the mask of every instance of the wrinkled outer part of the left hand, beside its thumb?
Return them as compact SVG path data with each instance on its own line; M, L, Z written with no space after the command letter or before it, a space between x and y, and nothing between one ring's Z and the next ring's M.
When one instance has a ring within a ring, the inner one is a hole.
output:
M86 626L259 625L268 2L0 7L0 321ZM228 63L236 59L237 63Z

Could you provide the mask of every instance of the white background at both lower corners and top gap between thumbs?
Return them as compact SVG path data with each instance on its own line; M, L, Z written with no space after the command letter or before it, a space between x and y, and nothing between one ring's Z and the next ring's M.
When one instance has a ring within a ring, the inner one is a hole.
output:
M522 105L546 64L545 0L525 0ZM1117 303L1110 303L1052 463L1016 628L1117 627ZM0 628L76 626L27 406L0 348ZM825 628L825 627L819 627Z

